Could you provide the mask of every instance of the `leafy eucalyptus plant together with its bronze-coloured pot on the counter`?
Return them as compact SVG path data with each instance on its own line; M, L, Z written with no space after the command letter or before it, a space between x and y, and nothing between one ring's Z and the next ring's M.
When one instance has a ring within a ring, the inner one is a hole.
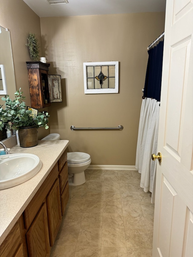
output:
M5 108L0 105L0 130L4 126L8 129L11 127L12 130L18 130L20 146L32 147L37 145L37 128L49 128L47 125L49 115L45 111L37 111L34 114L32 110L27 110L24 99L25 96L23 96L21 88L15 92L13 101L9 98L9 95L2 97L2 100L5 101ZM33 132L28 132L28 129ZM32 138L32 135L34 135L35 139ZM22 143L23 140L29 142L27 144Z

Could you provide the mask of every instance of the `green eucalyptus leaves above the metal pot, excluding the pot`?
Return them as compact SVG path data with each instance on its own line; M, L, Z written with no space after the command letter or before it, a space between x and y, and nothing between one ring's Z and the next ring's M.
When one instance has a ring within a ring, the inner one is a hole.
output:
M33 125L36 125L36 128L45 127L45 129L48 129L48 113L43 111L35 116L32 115L32 111L26 109L26 104L23 101L25 96L22 95L23 92L20 90L21 88L15 92L13 101L9 98L9 95L2 97L2 100L5 101L5 109L0 105L0 130L4 126L8 129L11 127L11 129L18 130L19 127Z

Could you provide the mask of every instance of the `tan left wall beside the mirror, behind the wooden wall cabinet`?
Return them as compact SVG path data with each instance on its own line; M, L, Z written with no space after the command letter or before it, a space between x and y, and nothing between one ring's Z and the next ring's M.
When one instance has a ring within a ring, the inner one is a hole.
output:
M26 96L26 103L30 105L26 61L33 60L31 60L25 44L27 43L29 32L35 33L40 45L42 44L40 17L23 0L1 0L0 26L8 28L10 31L16 89L18 90L21 87L22 91L24 91L24 96ZM42 48L40 49L40 54L42 54ZM12 100L14 99L14 92L15 89L11 91L8 89L8 94L10 94ZM48 133L45 129L38 129L39 138L42 138L45 133Z

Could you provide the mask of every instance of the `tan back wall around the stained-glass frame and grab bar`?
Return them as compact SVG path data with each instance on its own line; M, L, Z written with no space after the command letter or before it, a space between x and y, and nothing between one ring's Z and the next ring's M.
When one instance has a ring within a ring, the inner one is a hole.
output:
M62 103L49 108L52 133L69 151L87 152L97 165L135 165L147 46L164 31L164 13L40 18L49 74L62 76ZM119 94L84 94L83 62L119 61ZM116 127L122 131L71 131Z

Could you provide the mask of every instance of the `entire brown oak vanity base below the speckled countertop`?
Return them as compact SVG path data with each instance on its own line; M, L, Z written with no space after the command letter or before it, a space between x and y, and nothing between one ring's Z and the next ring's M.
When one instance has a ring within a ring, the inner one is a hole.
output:
M69 199L65 151L0 246L1 257L48 257Z

